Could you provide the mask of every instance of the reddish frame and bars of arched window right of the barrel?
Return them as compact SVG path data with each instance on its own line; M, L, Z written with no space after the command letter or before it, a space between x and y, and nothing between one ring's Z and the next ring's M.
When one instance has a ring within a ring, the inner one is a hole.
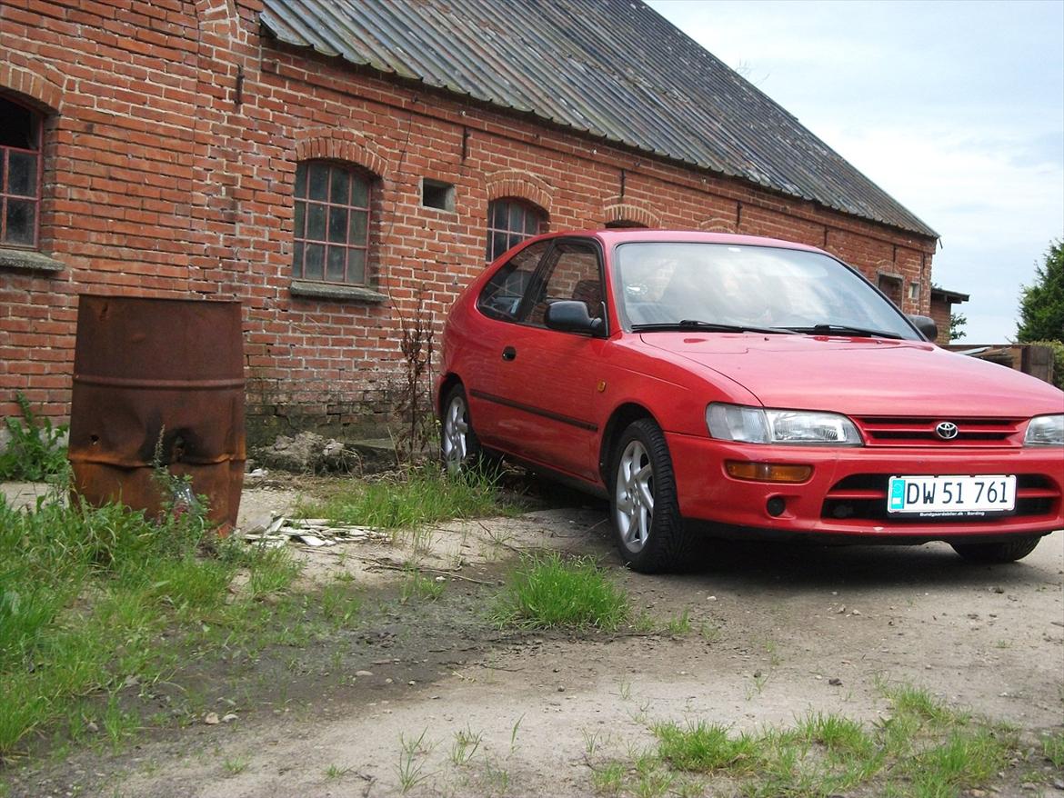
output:
M314 166L323 166L327 169L323 199L315 199L311 196L311 173ZM305 170L302 176L302 195L299 193L301 182L300 170ZM333 176L337 172L343 172L348 178L346 202L337 201L333 196ZM365 205L356 205L352 202L352 196L355 190L355 182L361 182L365 186ZM373 249L373 225L378 223L377 217L379 215L379 209L375 206L378 190L377 180L372 172L366 170L358 164L331 159L306 159L304 161L299 161L296 164L296 176L293 182L293 252L290 272L294 283L307 286L322 286L322 288L335 287L351 290L372 288L373 271L371 264L371 251ZM300 205L302 205L302 213L300 213ZM312 207L323 209L323 237L321 238L307 237L307 229L311 226ZM329 228L333 217L333 211L335 209L340 209L344 212L344 242L330 240ZM364 239L361 244L353 243L351 239L352 213L365 215L363 233ZM300 221L302 221L302 225L300 225ZM300 227L302 229L300 229ZM311 246L323 247L321 253L320 277L309 276L306 271L307 255ZM330 251L335 249L345 252L344 278L339 280L330 278L329 273ZM359 281L352 280L350 277L350 253L352 251L361 251L363 253L362 279Z

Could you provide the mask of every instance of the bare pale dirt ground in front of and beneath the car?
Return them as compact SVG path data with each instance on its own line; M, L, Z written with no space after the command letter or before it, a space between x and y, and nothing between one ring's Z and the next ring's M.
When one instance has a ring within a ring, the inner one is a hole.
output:
M648 577L620 567L604 505L544 493L517 518L447 523L401 545L295 547L303 578L347 570L380 608L339 653L302 654L283 696L256 682L221 697L233 722L76 753L21 774L12 794L585 796L595 763L648 749L656 721L753 729L810 711L872 720L888 711L884 680L1027 732L1064 725L1062 532L1005 566L966 563L941 544L720 544L692 573ZM242 519L296 497L284 483L249 486ZM518 552L541 548L599 558L637 610L659 626L686 613L691 631L493 629L482 611L500 579ZM396 568L411 558L446 587L396 609ZM479 745L458 764L463 733ZM995 792L1064 796L1018 783Z

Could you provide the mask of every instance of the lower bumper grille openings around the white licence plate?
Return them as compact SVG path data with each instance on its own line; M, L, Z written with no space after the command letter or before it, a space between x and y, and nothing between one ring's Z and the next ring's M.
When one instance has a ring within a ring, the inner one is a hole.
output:
M927 523L926 518L892 516L886 512L886 487L891 475L855 473L836 482L825 497L820 517L828 521L858 519L892 523ZM1009 517L1042 516L1053 512L1060 491L1041 473L1016 476L1016 510ZM974 519L979 520L979 519Z

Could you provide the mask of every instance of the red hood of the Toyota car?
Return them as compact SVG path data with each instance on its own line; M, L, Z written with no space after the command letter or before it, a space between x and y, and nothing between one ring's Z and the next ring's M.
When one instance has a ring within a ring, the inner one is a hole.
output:
M767 408L892 416L1064 411L1064 394L1048 383L924 342L667 332L642 338L672 360L737 382Z

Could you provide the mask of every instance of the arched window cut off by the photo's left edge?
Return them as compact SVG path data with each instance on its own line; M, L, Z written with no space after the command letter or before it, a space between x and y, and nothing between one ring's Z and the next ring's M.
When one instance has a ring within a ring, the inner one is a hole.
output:
M37 247L43 129L39 114L0 98L0 246Z

